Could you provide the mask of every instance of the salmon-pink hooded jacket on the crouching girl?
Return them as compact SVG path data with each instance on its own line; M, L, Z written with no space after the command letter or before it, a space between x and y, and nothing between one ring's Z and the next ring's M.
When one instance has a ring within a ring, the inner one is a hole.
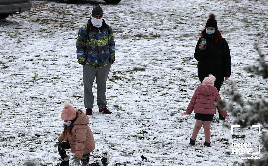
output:
M89 128L89 118L83 110L76 110L77 119L74 121L71 136L61 133L59 142L69 141L71 152L75 153L76 158L82 158L83 154L92 152L95 149L93 133Z

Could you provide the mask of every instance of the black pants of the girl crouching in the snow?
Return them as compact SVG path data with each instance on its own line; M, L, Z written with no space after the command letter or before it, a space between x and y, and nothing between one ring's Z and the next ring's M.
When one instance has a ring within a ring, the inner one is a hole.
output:
M70 149L71 146L70 146L70 143L69 141L64 141L64 142L61 142L59 145L58 145L58 151L59 151L59 154L61 156L62 159L66 158L67 157L67 154L66 154L66 149ZM98 163L92 163L92 164L88 164L89 163L89 157L90 157L90 153L87 153L87 154L84 154L82 159L81 159L81 164L84 166L84 165L89 165L89 166L99 166Z

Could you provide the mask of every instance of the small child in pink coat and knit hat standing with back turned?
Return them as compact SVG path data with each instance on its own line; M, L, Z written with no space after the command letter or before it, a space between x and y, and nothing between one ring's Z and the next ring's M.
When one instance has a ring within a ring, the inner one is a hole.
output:
M192 138L190 139L190 144L195 145L195 138L203 125L205 132L205 146L210 146L210 124L213 120L214 114L216 114L215 102L221 101L220 94L216 87L214 87L214 81L216 78L213 75L209 75L204 78L202 85L198 86L195 90L185 113L186 115L195 113L195 128L192 133ZM227 116L226 110L219 110L220 114L227 120L230 118Z

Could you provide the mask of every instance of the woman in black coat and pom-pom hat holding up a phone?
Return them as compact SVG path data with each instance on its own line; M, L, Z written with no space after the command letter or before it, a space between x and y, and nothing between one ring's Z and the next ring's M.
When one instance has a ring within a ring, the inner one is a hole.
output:
M198 61L198 78L202 82L205 77L212 74L216 77L214 86L220 92L223 81L231 76L231 56L228 43L218 30L215 15L210 14L206 28L201 32L195 47L195 59ZM205 48L201 45L201 39L206 39ZM220 119L224 120L220 114Z

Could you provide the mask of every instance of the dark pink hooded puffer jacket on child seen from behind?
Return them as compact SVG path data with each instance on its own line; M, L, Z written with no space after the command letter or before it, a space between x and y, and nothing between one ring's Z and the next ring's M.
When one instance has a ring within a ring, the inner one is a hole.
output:
M203 84L196 88L186 112L203 113L203 114L216 114L216 107L213 105L215 102L221 101L220 94L216 87L210 84ZM220 114L224 117L227 115L225 110L219 110Z

